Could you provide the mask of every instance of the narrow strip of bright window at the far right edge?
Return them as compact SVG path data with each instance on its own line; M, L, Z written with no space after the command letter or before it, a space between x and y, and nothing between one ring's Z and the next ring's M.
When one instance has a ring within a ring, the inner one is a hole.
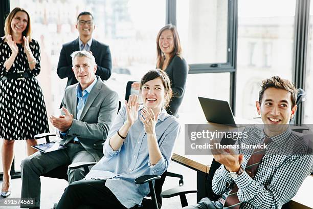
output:
M310 21L306 64L306 101L304 108L304 123L313 123L313 2L310 4Z

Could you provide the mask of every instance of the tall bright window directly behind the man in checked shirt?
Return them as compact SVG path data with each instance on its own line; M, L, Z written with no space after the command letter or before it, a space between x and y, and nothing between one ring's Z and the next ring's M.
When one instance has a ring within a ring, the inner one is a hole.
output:
M239 1L236 116L257 115L262 79L292 80L295 10L295 0Z

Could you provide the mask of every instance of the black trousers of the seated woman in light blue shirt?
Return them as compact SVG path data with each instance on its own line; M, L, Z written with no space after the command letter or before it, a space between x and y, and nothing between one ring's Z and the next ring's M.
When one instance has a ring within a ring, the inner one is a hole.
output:
M81 180L71 183L63 193L57 209L81 208L83 205L95 208L118 208L126 207L116 198L116 196L106 187L105 179Z

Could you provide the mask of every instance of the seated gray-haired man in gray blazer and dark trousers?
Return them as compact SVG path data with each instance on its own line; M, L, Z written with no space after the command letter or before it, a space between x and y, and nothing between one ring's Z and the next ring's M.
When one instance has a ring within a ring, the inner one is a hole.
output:
M66 149L35 154L21 162L21 198L35 198L40 207L40 175L70 163L97 162L103 156L103 143L118 112L118 94L96 76L95 57L87 51L72 53L72 70L78 83L65 89L62 115L50 116L61 144ZM69 183L84 178L83 169L69 170Z

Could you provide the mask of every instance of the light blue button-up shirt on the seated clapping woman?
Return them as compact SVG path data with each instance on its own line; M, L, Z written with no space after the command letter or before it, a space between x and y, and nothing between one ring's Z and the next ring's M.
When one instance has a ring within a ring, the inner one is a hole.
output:
M147 134L139 118L141 109L142 107L139 108L138 119L128 131L122 147L114 151L109 145L110 138L126 121L125 106L119 111L114 126L105 140L104 156L85 177L85 179L107 179L105 186L127 208L141 204L142 199L149 193L148 184L135 184L136 178L149 174L161 175L167 170L175 140L180 132L177 119L163 109L155 125L162 157L155 165L149 165Z

